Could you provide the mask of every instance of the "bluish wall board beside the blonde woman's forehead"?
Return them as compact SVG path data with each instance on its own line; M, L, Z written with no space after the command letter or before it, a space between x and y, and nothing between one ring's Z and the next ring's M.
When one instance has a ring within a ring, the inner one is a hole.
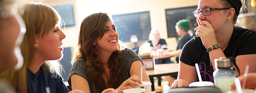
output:
M52 6L52 7L59 13L60 17L63 19L61 21L65 22L65 27L75 25L75 18L74 18L72 4Z

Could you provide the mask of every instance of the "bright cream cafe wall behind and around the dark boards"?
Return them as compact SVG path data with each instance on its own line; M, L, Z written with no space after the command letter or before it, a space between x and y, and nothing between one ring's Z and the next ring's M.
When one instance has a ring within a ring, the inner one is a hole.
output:
M62 27L62 31L66 34L62 47L71 47L72 52L77 44L80 24L88 15L103 12L112 17L112 15L145 11L150 11L151 29L162 30L160 37L167 41L169 49L176 50L176 38L167 37L165 10L198 4L198 0L46 0L45 2L51 6L73 4L75 25L65 29ZM132 43L126 44L130 48L134 47Z

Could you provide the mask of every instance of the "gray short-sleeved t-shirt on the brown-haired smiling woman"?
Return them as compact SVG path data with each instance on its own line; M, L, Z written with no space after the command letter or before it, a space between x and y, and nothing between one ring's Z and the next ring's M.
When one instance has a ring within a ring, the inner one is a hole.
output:
M130 78L130 68L131 68L131 64L134 61L140 60L141 63L143 64L141 58L131 49L124 49L125 50L125 54L124 54L124 65L126 68L126 72L124 73L126 75L126 79ZM90 87L90 92L91 93L97 93L97 88L96 88L96 84L94 84L94 82L92 81L92 79L90 79L88 77L88 71L87 71L87 67L85 66L86 60L85 59L80 59L80 60L76 60L72 66L72 69L70 71L69 74L69 78L68 78L68 83L69 86L71 86L71 75L76 74L79 75L81 77L83 77L84 79L86 79L89 83L89 87Z

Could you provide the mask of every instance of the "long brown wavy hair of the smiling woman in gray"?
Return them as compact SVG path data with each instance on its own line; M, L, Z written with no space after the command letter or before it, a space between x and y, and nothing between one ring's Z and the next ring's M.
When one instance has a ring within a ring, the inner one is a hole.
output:
M126 47L123 42L118 40L118 50L112 53L109 58L108 67L110 68L110 77L108 77L103 63L99 60L99 53L93 43L97 38L102 38L106 22L112 21L106 13L95 13L86 17L80 28L79 40L77 48L73 54L71 64L80 58L85 59L88 71L88 77L93 80L97 85L98 93L102 92L105 88L118 88L125 80L125 66L123 64L124 51ZM105 83L103 74L107 76L109 83Z

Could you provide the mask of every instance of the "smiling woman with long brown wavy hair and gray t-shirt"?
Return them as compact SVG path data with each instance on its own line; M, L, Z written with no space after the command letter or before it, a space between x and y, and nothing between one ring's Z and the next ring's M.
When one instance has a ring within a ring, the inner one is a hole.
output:
M141 58L118 40L116 27L106 13L91 14L83 20L71 63L69 85L86 93L107 88L123 93L132 88L130 85L139 86L141 67L143 81L149 81Z

